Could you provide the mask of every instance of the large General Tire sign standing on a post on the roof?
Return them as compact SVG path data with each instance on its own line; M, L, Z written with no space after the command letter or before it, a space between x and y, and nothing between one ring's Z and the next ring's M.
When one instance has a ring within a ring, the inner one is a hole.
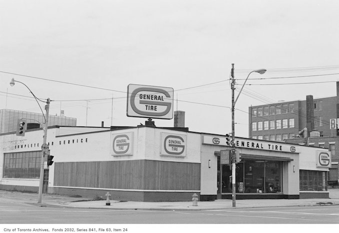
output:
M173 118L173 88L129 84L126 113L134 117Z

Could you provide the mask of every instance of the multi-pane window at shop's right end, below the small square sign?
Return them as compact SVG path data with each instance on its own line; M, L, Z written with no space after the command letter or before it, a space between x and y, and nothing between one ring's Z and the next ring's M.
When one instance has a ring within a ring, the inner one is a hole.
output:
M300 191L326 191L326 171L300 170Z

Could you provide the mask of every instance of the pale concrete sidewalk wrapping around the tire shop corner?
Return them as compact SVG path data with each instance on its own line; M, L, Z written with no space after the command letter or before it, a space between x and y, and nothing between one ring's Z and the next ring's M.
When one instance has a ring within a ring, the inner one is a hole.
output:
M339 189L338 189L339 190ZM339 205L339 196L330 195L331 198L321 199L245 199L236 200L235 208L253 207L282 207L282 206L319 206ZM43 194L42 203L37 203L37 193L24 193L0 190L0 198L32 204L36 206L53 206L61 208L102 208L102 209L148 209L148 210L211 210L211 209L234 209L231 199L218 199L214 201L198 201L193 206L192 201L172 202L141 202L141 201L118 201L92 200L91 197L71 197L58 194Z

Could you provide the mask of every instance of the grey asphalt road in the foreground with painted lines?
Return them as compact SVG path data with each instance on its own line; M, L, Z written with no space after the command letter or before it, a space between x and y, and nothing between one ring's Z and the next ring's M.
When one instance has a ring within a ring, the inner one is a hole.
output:
M339 223L339 205L218 210L113 210L0 202L0 224L314 224ZM0 231L1 232L1 231Z

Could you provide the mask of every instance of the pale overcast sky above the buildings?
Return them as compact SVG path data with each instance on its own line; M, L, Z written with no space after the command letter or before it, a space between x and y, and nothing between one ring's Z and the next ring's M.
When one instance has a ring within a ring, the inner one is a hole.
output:
M147 118L126 115L127 85L163 86L190 131L225 134L234 63L235 96L249 72L267 69L249 75L235 104L235 135L247 137L250 105L336 95L338 9L337 0L0 0L0 109L41 112L14 78L78 126L136 126Z

